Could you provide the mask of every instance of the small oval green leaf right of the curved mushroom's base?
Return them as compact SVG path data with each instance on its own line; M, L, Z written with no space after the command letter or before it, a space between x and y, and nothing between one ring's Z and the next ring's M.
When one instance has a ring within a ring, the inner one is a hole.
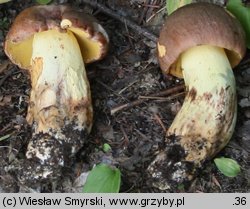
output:
M215 165L227 177L235 177L240 172L240 165L230 158L215 158Z

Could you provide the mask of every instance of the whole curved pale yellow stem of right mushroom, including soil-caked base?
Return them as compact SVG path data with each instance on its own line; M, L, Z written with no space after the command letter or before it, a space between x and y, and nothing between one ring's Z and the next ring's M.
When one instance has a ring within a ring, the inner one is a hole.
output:
M227 144L237 115L235 79L224 49L196 46L179 61L188 93L167 131L167 148L149 166L161 189L191 180Z

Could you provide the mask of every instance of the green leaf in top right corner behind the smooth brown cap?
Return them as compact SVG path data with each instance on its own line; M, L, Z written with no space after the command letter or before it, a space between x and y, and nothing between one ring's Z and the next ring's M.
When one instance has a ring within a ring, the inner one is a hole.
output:
M250 49L250 8L244 6L241 0L229 0L227 10L230 11L241 23L247 39L247 48Z

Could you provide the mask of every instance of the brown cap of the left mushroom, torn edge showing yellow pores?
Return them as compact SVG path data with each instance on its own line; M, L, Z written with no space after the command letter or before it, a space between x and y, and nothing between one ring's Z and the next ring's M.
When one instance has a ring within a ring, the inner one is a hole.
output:
M72 31L85 63L99 60L107 52L108 36L93 17L69 6L41 5L27 8L16 17L5 40L5 53L19 67L28 69L33 35L51 29Z

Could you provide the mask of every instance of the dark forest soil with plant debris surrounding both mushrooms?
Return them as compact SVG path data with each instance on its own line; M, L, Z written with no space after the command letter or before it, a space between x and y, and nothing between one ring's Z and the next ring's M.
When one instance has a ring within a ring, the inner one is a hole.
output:
M0 5L0 42L16 15L35 1L16 0ZM164 0L98 1L115 13L125 16L139 27L158 36L165 13ZM212 2L212 1L210 1ZM223 4L223 1L213 1ZM147 167L164 146L165 132L184 100L184 92L170 97L147 97L139 104L113 113L114 108L131 103L139 97L154 95L183 84L182 80L163 76L155 53L155 43L127 27L109 14L88 6L81 0L54 0L92 13L110 37L108 55L100 62L87 65L90 81L94 124L84 146L71 167L56 181L28 185L20 181L25 169L27 144L32 130L26 122L29 103L29 75L13 65L0 48L0 192L77 192L81 178L99 162L109 162L122 174L120 192L249 192L250 191L250 53L235 69L238 93L238 118L232 139L215 157L236 160L241 172L234 178L225 177L213 160L205 163L189 184L172 190L152 186ZM112 114L111 114L112 113ZM108 143L111 153L104 153Z

